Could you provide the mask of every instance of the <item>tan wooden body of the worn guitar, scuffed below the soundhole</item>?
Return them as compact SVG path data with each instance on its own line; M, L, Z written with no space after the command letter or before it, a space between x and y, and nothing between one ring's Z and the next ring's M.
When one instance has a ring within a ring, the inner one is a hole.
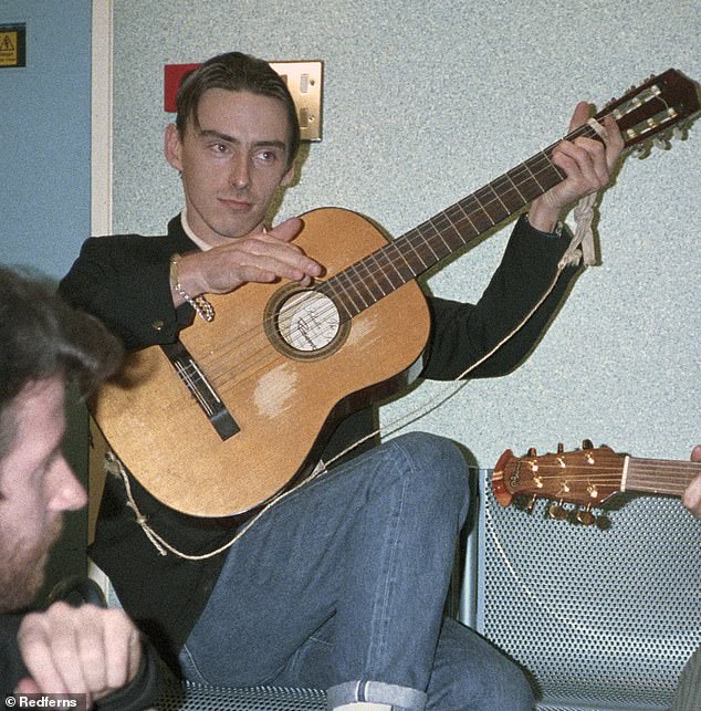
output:
M295 243L326 268L325 278L387 243L347 210L320 209L303 220ZM197 516L255 508L316 463L341 418L420 372L430 318L415 281L312 352L289 347L271 326L271 306L285 290L295 286L247 284L208 296L213 322L196 318L180 334L238 427L227 439L159 346L128 356L119 381L101 390L95 421L125 467L166 505Z

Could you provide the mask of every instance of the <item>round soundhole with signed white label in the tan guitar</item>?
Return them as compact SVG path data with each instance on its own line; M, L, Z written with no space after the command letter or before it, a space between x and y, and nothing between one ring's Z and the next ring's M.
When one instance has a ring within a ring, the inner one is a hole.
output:
M281 289L265 310L268 337L291 358L326 357L343 345L349 330L348 322L342 323L332 299L296 284Z

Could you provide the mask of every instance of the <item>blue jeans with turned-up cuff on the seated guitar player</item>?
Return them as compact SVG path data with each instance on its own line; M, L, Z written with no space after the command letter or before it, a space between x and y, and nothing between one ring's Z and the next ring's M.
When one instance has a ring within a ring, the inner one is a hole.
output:
M307 482L229 550L186 677L323 688L331 708L530 709L521 671L443 621L468 499L458 448L421 433Z

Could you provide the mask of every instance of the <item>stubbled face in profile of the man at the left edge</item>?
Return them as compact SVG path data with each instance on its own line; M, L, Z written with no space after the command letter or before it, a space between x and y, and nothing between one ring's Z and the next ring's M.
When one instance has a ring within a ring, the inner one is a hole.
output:
M13 404L14 441L0 461L0 613L33 600L63 512L86 503L61 451L63 408L61 378L31 383Z

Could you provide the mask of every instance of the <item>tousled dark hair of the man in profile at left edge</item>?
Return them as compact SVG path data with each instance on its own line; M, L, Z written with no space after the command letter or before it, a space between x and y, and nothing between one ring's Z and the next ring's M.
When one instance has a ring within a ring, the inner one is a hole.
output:
M0 461L14 437L12 406L28 385L61 377L87 396L123 353L97 318L73 310L49 283L0 266Z

